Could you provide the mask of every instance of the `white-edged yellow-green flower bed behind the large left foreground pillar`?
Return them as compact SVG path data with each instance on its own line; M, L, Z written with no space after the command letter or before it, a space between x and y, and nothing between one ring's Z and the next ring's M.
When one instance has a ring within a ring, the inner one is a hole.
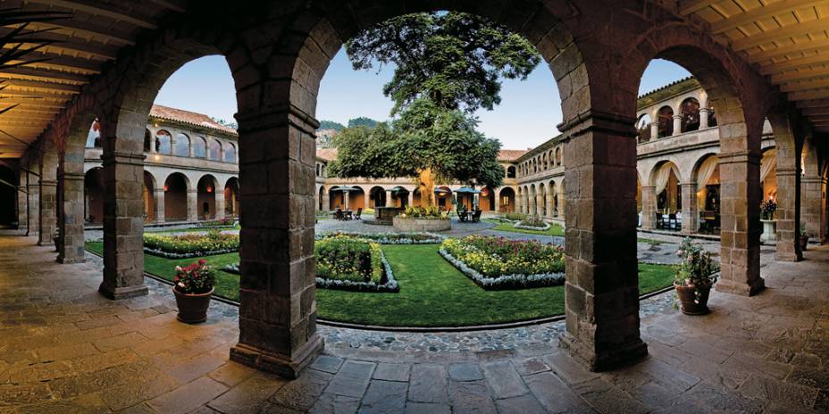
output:
M399 292L400 286L380 244L342 234L314 243L316 286L361 292ZM239 263L222 270L240 274Z

